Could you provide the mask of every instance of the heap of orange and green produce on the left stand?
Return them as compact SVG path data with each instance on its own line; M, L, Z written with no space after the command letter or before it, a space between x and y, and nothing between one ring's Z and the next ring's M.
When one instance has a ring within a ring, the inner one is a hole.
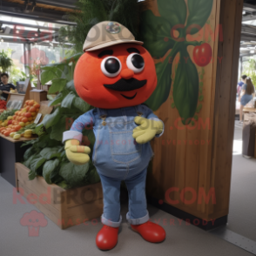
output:
M27 100L20 111L4 111L0 116L0 132L14 139L31 138L39 108L40 104L36 101Z

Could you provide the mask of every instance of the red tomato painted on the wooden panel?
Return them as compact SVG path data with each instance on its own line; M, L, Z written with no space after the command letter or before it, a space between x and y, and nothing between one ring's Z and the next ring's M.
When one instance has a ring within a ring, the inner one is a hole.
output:
M196 46L193 51L193 59L195 64L205 67L212 60L212 48L210 44L201 44Z

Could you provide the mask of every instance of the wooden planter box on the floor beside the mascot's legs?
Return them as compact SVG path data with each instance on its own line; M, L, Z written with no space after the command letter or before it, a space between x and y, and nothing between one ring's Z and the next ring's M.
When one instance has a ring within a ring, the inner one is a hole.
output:
M103 212L101 183L64 190L58 185L48 185L43 177L29 180L30 170L16 163L16 187L26 204L37 206L61 229L96 219ZM47 196L46 196L47 195Z

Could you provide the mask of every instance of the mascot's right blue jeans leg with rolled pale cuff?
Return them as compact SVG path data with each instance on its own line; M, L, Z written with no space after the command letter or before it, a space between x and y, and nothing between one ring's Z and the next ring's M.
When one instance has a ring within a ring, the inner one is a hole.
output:
M139 225L147 222L149 213L147 211L146 197L145 197L145 179L147 169L125 179L125 184L129 193L129 212L126 214L127 221L132 225Z

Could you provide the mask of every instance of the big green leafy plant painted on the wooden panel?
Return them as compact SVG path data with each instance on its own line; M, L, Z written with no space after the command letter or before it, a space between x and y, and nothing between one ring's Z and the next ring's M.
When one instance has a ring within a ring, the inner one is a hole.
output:
M202 99L199 98L199 74L194 64L199 64L199 60L194 59L192 62L187 47L189 45L203 47L203 44L208 49L210 47L204 42L189 42L186 36L194 35L199 31L193 25L196 24L200 28L205 25L212 11L212 2L213 0L193 0L187 1L186 6L185 0L158 0L160 17L154 16L152 10L145 10L141 15L141 40L145 42L144 46L152 57L158 59L156 64L158 86L145 104L153 111L157 111L167 100L172 87L173 60L179 56L179 64L177 68L175 67L172 108L177 108L184 125L192 122L198 109L198 102ZM175 30L172 28L178 30L179 38L172 35L171 31ZM165 56L168 51L170 52ZM211 59L210 54L205 57Z

